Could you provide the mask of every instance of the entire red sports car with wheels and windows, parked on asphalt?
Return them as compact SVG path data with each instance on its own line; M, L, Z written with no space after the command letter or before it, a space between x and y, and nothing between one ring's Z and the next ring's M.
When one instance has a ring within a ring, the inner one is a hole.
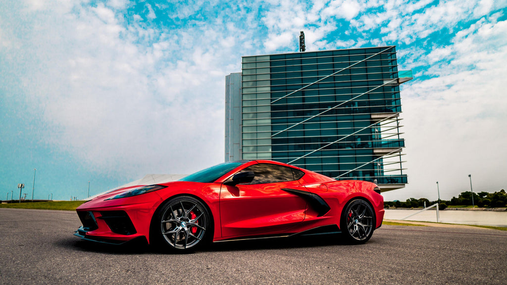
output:
M179 181L114 190L77 208L85 240L146 239L169 251L209 241L342 232L364 243L380 227L377 185L269 161L218 164Z

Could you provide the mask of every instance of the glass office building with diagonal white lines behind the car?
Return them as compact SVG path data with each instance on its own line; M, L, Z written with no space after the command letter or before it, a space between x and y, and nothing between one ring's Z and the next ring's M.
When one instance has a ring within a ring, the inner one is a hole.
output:
M394 46L242 58L226 77L226 161L271 159L337 180L402 188Z

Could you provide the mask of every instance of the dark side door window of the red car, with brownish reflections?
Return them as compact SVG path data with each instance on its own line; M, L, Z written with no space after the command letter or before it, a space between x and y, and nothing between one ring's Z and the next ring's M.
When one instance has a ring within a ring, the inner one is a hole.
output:
M292 168L282 165L260 163L248 166L241 172L244 171L253 171L255 173L253 181L249 184L276 183L296 180ZM296 171L299 170L296 169Z

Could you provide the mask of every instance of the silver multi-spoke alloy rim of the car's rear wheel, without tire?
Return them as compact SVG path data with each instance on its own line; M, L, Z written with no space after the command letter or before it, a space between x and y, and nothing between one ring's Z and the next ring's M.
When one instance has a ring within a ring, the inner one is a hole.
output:
M346 212L346 226L351 238L357 241L368 240L373 232L373 210L364 200L354 200Z

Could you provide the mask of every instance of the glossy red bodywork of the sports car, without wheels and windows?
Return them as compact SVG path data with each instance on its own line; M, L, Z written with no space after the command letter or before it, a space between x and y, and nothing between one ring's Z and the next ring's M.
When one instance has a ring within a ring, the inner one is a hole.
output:
M294 181L235 186L224 184L234 174L254 164L281 165L304 173ZM165 188L111 199L139 187L133 186L85 202L77 208L83 227L76 235L87 240L111 243L138 237L150 242L154 217L165 201L176 196L194 197L206 205L211 213L212 241L285 236L324 226L335 226L338 230L343 227L340 221L344 207L354 199L367 201L372 207L373 229L380 227L384 216L383 197L377 193L380 191L373 183L336 181L309 170L269 160L242 162L211 183L176 181L159 185ZM115 216L125 216L125 213L127 217ZM114 219L117 222L112 226Z

